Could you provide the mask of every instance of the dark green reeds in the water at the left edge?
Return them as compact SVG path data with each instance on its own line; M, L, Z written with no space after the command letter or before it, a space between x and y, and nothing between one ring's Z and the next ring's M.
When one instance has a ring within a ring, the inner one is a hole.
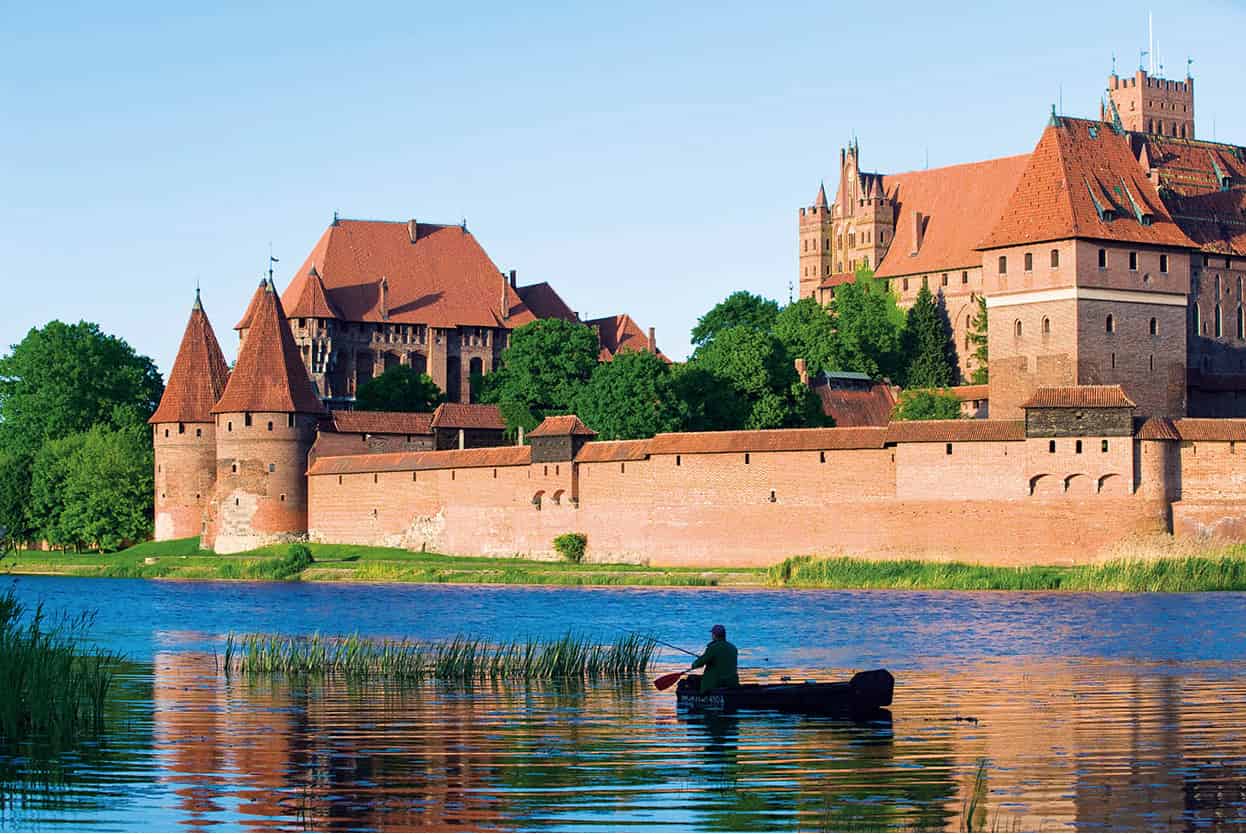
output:
M0 597L0 747L100 733L121 657L82 646L92 615L49 622L42 605L26 613L10 587Z

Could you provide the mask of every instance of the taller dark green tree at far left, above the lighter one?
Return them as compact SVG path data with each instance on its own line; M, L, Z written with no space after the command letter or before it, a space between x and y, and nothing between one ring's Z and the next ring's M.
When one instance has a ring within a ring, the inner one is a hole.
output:
M0 449L34 458L45 440L147 420L164 385L156 365L90 322L49 322L0 358Z

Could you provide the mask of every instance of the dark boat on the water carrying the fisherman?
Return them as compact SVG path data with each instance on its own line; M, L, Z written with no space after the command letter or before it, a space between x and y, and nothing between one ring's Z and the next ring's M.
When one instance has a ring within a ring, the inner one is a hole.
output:
M744 683L703 693L700 676L690 674L675 687L675 701L687 709L735 712L775 709L812 716L868 718L891 704L896 679L887 669L857 672L851 681L821 683Z

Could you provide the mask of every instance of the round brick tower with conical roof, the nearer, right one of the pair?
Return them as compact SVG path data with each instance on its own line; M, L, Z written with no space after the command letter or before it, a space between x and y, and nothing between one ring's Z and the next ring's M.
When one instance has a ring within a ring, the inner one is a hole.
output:
M272 283L248 310L247 335L212 409L217 482L203 545L235 554L308 530L308 451L324 414Z

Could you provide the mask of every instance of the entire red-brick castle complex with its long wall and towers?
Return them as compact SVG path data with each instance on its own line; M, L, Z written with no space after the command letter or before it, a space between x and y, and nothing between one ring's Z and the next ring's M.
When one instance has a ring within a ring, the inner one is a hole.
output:
M860 266L902 303L928 285L962 369L984 297L991 383L967 403L991 419L597 441L568 415L503 445L471 375L512 328L579 315L465 227L334 218L283 295L255 290L232 371L196 298L151 419L157 539L546 556L581 531L593 560L711 567L1246 537L1246 420L1230 419L1246 408L1246 152L1194 138L1191 80L1113 75L1100 120L1053 113L1024 156L906 175L858 158L841 152L834 204L820 189L800 211L801 295L829 300ZM603 360L657 352L629 317L588 323ZM392 364L450 401L330 410Z

